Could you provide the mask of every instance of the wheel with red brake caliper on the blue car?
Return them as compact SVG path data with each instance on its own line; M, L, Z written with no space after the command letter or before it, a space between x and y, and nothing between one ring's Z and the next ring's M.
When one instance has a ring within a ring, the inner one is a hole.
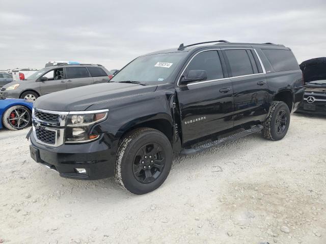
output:
M31 110L21 105L12 106L4 112L2 123L9 130L22 130L32 123Z

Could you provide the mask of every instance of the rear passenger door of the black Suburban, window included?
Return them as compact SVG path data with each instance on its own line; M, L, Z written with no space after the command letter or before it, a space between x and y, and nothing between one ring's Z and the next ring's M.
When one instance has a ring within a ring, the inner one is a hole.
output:
M234 126L266 118L268 85L255 49L224 49L234 93Z

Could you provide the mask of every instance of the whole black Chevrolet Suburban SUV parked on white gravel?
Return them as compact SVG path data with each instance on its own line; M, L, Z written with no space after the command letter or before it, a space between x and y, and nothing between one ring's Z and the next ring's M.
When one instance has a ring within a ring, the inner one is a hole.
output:
M31 157L63 177L114 175L145 194L165 181L173 155L258 131L282 139L303 95L302 72L283 45L181 44L135 58L108 83L37 99Z

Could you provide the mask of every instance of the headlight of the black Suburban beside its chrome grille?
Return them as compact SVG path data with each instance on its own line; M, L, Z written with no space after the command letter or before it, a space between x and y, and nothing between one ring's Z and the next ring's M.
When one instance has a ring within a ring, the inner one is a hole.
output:
M98 139L92 127L107 118L108 109L97 111L70 112L65 133L66 143L85 143Z

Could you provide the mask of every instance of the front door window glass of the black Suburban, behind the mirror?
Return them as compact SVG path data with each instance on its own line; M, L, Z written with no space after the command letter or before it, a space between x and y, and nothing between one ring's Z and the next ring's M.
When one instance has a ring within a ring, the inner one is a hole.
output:
M198 53L187 66L184 74L189 70L206 70L207 80L224 78L218 51L204 51Z

